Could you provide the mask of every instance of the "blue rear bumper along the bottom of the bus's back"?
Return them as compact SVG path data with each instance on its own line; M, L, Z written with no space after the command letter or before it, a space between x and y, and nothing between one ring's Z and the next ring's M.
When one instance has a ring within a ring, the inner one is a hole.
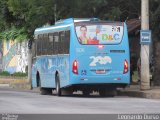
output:
M129 74L117 76L72 76L68 84L73 88L124 88L130 84Z

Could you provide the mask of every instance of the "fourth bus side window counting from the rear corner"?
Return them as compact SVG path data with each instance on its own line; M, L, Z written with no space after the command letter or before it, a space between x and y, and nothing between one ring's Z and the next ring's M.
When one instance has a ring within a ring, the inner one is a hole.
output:
M48 55L53 54L53 34L49 34L49 39L48 39Z

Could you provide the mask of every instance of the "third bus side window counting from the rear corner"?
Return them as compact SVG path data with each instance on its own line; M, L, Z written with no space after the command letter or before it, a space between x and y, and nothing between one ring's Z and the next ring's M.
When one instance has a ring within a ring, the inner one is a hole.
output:
M58 54L59 48L59 33L55 32L53 37L53 54Z

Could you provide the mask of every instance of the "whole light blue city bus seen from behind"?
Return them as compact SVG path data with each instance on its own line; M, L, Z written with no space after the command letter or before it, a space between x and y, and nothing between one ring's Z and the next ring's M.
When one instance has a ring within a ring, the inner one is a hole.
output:
M106 95L130 83L125 22L69 18L37 28L34 36L32 86L41 94Z

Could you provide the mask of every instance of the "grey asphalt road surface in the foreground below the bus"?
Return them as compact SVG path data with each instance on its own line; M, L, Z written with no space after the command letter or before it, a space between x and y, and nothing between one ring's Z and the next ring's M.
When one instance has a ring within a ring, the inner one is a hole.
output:
M160 100L116 97L40 95L32 91L0 89L0 113L109 114L159 113Z

